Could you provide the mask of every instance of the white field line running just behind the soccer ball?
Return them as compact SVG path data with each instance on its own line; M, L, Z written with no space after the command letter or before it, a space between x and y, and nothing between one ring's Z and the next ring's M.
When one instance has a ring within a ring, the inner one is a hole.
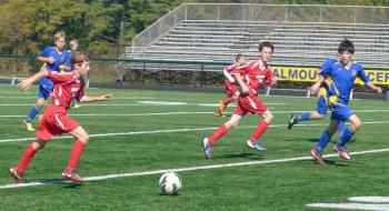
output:
M369 154L369 153L379 153L379 152L388 152L388 151L389 151L389 148L351 152L350 154L357 155L357 154ZM332 158L332 157L338 157L338 154L323 155L323 158ZM84 181L100 181L100 180L108 180L108 179L116 179L116 178L130 178L130 177L162 174L162 173L169 172L169 171L188 172L188 171L197 171L197 170L222 169L222 168L233 168L233 167L255 165L255 164L283 163L283 162L291 162L291 161L303 161L303 160L312 160L312 157L297 157L297 158L289 158L289 159L233 162L233 163L225 163L225 164L210 164L210 165L188 167L188 168L178 168L178 169L160 169L160 170L140 171L140 172L113 173L113 174L107 174L107 175L87 177L83 179L84 179ZM4 184L4 185L0 185L0 190L18 189L18 188L27 188L27 187L38 187L38 185L47 185L47 184L60 184L60 183L67 183L67 182L69 182L69 181L52 180L52 181L30 182L30 183L22 183L22 184Z

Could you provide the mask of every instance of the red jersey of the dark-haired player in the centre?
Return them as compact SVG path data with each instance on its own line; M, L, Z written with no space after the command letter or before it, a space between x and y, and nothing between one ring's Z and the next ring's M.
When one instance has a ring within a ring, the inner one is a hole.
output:
M243 82L249 87L250 94L257 96L260 84L272 86L275 79L270 66L260 67L258 61L250 61L246 66L232 70L232 74L241 74Z

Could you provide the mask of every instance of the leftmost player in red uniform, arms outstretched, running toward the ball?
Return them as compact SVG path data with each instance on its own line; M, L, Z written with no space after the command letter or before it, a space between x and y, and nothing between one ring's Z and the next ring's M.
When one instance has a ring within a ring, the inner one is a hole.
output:
M53 81L51 93L51 104L46 109L41 121L39 122L36 135L37 141L32 142L24 151L19 163L10 169L10 174L17 183L23 183L23 172L32 161L34 154L44 148L53 135L63 133L71 134L76 142L70 153L70 160L64 169L62 177L73 182L82 182L83 179L76 173L81 153L89 140L87 131L74 120L67 115L70 101L73 97L80 102L106 101L110 100L111 93L99 97L90 97L84 93L84 82L82 78L88 76L89 58L83 53L74 53L70 58L71 72L42 71L36 73L29 79L19 83L19 88L27 90L40 78L47 77Z

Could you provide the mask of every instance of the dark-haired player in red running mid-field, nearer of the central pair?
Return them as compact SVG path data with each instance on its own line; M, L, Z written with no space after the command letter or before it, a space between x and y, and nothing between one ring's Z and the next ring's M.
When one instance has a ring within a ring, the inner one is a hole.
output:
M221 124L211 135L202 140L206 159L212 159L212 145L215 142L231 128L238 125L238 122L248 112L262 115L263 120L259 121L256 131L246 142L246 145L258 151L267 150L258 140L268 129L273 115L257 96L260 84L272 86L276 82L270 66L268 66L273 49L272 43L267 41L261 42L259 44L259 60L250 61L248 64L232 71L232 74L235 74L236 80L242 89L242 93L239 96L238 104L233 110L231 119Z

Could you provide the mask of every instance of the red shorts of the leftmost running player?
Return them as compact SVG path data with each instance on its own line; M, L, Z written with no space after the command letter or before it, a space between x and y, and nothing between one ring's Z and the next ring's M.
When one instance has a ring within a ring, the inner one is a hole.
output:
M54 135L69 133L78 127L80 124L70 119L66 113L51 110L49 107L39 122L36 135L40 140L48 141Z

